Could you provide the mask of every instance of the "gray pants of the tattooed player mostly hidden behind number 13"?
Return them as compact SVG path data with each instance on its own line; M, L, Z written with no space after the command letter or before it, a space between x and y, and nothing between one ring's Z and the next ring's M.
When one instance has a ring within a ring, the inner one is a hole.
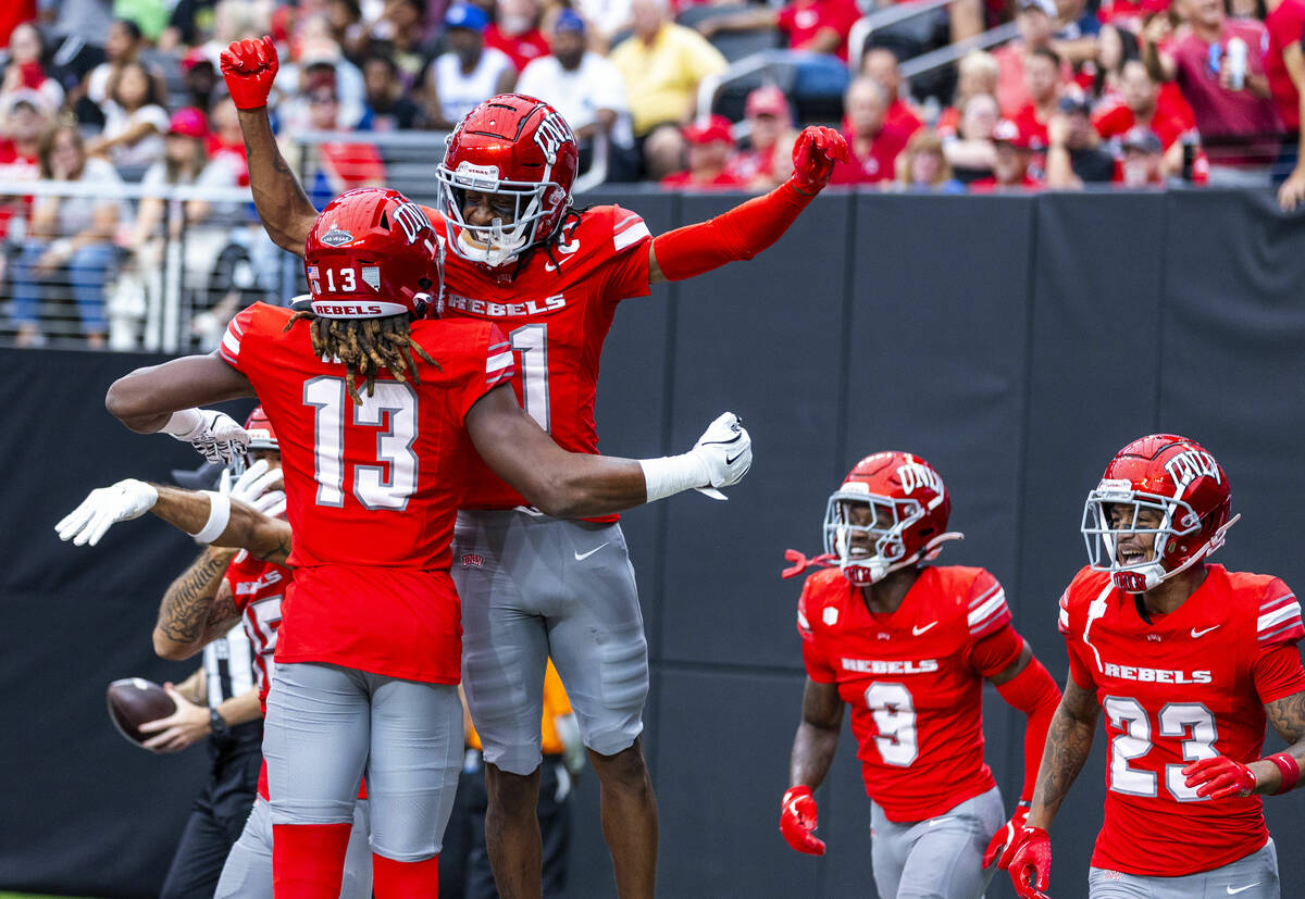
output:
M339 899L372 899L369 830L367 800L360 799L354 806ZM231 847L213 899L271 899L271 806L262 796L254 800L245 829Z

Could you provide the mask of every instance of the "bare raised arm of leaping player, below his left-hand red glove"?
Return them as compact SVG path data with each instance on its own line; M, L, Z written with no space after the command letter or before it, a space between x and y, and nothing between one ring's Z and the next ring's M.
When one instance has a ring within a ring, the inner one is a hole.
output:
M317 210L277 146L268 108L240 110L239 116L249 163L249 190L262 227L278 247L303 256Z

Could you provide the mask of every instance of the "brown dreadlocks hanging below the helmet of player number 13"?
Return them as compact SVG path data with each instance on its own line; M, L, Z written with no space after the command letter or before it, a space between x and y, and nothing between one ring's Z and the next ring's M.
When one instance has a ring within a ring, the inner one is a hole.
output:
M408 313L384 318L322 318L312 309L304 309L290 317L284 330L288 331L301 318L308 321L313 352L345 363L345 384L358 404L363 403L356 385L359 374L367 376L367 395L371 397L376 393L376 373L382 368L388 368L399 381L407 382L411 378L412 384L422 382L414 352L440 368L440 363L431 359L422 344L412 339Z

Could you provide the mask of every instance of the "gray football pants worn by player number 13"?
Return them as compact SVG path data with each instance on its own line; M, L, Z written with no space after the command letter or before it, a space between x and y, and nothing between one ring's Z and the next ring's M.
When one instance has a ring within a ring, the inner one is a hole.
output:
M316 663L278 664L271 682L271 822L352 821L365 769L372 849L395 861L437 855L462 767L458 688Z

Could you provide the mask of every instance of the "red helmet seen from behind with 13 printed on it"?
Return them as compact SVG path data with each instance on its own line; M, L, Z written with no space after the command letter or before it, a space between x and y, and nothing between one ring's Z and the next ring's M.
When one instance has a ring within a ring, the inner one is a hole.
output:
M427 314L444 284L444 241L398 190L342 193L308 231L312 309L322 318Z

